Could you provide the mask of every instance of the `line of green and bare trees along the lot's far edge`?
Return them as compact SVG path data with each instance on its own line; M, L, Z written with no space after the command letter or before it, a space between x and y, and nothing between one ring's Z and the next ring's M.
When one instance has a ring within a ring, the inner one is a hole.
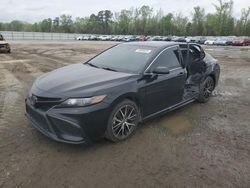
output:
M250 7L243 8L240 18L235 18L232 15L233 0L218 0L213 6L215 13L206 13L203 8L194 7L190 18L182 13L164 14L161 9L154 11L152 7L144 5L115 13L102 10L98 14L75 19L64 14L33 24L19 20L0 22L0 30L119 35L250 36Z

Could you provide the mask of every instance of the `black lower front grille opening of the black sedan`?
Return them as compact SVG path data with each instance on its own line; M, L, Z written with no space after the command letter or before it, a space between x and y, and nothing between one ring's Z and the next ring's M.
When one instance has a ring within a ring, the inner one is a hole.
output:
M49 126L47 124L47 120L42 114L40 114L36 110L29 107L29 105L26 105L26 111L27 111L27 114L29 114L32 121L34 121L34 123L36 123L36 125L38 125L42 129L50 132Z

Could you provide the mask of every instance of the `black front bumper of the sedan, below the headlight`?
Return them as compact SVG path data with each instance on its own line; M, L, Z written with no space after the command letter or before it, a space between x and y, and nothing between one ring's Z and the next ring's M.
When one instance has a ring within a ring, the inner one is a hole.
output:
M49 138L70 144L89 144L104 135L109 106L99 103L81 108L42 110L26 102L26 117L33 127Z

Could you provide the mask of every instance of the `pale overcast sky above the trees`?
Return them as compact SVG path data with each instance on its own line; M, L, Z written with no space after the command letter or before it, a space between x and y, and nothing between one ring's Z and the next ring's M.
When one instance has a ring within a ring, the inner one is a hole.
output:
M191 15L194 6L205 8L206 12L214 12L212 3L217 0L0 0L0 22L14 19L36 22L44 18L54 18L61 14L75 17L89 16L100 10L117 12L131 7L149 5L154 10L162 9L164 13L182 12ZM233 15L240 16L241 9L250 6L250 0L234 0Z

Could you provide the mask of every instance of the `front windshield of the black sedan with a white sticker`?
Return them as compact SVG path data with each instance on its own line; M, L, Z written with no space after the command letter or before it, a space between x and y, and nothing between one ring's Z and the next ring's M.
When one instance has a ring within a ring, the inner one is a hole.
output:
M140 73L153 54L154 47L121 44L104 51L87 64L107 70Z

